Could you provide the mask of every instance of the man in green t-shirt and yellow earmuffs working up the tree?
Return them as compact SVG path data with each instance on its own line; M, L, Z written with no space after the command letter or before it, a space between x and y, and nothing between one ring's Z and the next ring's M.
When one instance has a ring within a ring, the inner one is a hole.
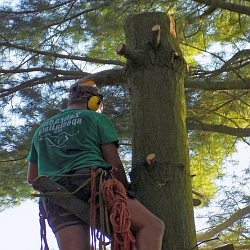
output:
M46 175L74 192L89 178L85 174L96 166L107 172L112 170L113 176L127 189L117 134L106 115L93 112L99 107L102 95L96 87L79 83L70 87L67 109L42 123L33 135L27 157L29 184ZM87 202L91 197L90 185L75 195ZM126 201L135 249L160 250L164 223L135 198L126 197ZM40 213L43 204L39 202ZM89 250L90 226L49 199L45 204L46 218L60 250Z

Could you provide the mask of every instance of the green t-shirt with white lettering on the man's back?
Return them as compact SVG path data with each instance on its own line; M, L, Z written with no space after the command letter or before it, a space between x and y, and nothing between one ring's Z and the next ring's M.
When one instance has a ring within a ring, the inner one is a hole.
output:
M67 109L45 121L35 132L27 160L38 166L38 175L59 179L71 170L109 168L101 145L118 137L109 118L91 110Z

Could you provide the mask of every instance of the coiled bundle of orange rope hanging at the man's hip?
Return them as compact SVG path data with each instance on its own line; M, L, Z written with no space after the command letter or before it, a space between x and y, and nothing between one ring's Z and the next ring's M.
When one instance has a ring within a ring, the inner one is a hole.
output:
M113 227L112 250L134 249L135 239L130 231L131 214L124 186L116 178L109 179L102 185L102 194Z

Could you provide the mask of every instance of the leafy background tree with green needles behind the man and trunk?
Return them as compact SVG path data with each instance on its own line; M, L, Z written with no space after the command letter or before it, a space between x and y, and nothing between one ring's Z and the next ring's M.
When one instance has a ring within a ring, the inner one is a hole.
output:
M125 18L151 11L168 12L176 18L189 66L185 94L191 172L196 174L192 184L203 194L203 204L209 204L216 191L214 179L225 175L221 166L226 157L235 152L238 141L249 144L248 1L3 2L1 178L8 173L16 181L9 181L12 190L3 190L7 207L13 204L9 200L19 202L27 194L24 159L32 132L39 121L65 107L61 100L67 97L67 87L93 73L93 66L106 65L97 84L106 93L105 112L117 124L123 152L129 152L129 96L126 85L121 84L125 63L114 50L125 41ZM210 55L209 60L201 55ZM17 179L9 174L10 166L17 170ZM241 206L247 205L246 199ZM235 211L230 210L228 216ZM242 220L246 222L245 217ZM212 225L222 221L223 217Z

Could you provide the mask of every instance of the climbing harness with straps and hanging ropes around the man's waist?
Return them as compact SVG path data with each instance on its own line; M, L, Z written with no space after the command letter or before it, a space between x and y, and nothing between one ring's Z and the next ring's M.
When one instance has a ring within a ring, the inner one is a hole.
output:
M134 249L135 239L130 231L130 212L127 208L126 189L111 172L107 172L101 168L91 167L88 174L75 173L77 176L88 175L89 178L80 185L74 192L51 192L40 191L40 196L46 196L48 199L53 195L72 195L84 188L86 185L91 186L90 204L90 228L91 228L91 249L96 250L97 240L99 241L99 249L106 249L111 243L112 250L132 250ZM96 191L96 179L99 178L99 190ZM36 189L38 190L38 189ZM39 190L38 190L39 191ZM39 196L39 195L38 195ZM56 203L56 202L55 202ZM74 211L72 211L74 214ZM40 215L41 225L41 250L42 241L44 242L44 250L49 250L46 240L45 212ZM78 216L79 217L79 216ZM97 226L98 225L98 226ZM111 242L106 242L107 239Z

